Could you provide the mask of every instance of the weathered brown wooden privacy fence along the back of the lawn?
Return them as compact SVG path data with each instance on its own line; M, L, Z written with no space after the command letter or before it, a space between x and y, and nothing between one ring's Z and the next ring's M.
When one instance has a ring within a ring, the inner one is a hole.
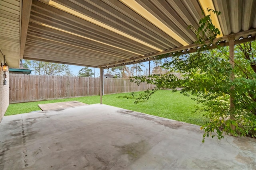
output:
M10 103L100 95L100 78L10 74ZM104 78L104 94L138 92L154 88L128 79Z

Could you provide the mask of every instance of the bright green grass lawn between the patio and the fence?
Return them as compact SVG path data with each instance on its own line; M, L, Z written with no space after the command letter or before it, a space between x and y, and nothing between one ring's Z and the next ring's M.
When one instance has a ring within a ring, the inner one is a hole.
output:
M105 95L102 97L102 102L103 104L107 104L110 106L116 106L124 109L129 109L196 125L203 125L206 121L206 118L202 116L203 113L192 113L192 111L196 109L196 106L200 105L196 104L196 102L194 100L191 100L190 97L180 94L180 92L172 93L171 90L159 90L152 95L152 98L150 98L150 100L146 102L141 102L139 104L134 104L134 100L132 99L118 98L118 96L125 96L127 94L130 93ZM86 104L97 104L100 103L100 96L86 96L79 98L10 104L5 115L15 115L40 110L38 104L66 102L74 100Z

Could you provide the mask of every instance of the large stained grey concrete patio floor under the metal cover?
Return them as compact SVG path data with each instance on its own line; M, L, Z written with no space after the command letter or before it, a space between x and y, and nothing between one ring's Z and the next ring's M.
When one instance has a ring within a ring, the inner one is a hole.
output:
M1 170L256 169L256 139L107 105L6 116Z

